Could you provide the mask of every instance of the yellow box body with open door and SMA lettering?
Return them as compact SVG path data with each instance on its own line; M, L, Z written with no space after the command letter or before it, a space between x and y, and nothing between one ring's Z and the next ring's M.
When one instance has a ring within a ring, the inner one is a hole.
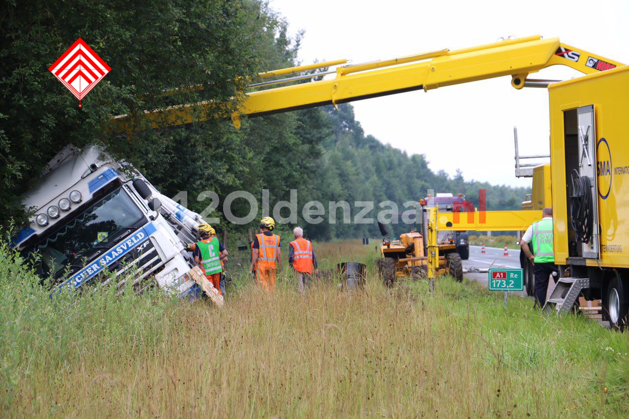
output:
M629 267L629 67L552 84L548 89L555 262ZM589 106L593 106L594 127L588 139L594 156L583 155L579 133L574 129L576 113ZM573 170L587 169L587 157L596 179L593 202L598 206L595 210L599 228L594 229L595 234L599 231L598 249L594 243L590 243L589 249L574 249L571 177Z

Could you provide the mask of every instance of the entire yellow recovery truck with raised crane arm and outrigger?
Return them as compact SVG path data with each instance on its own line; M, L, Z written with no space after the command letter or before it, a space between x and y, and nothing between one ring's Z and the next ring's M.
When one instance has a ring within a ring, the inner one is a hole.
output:
M374 98L399 92L451 86L504 75L511 86L542 87L550 96L550 189L554 208L555 262L560 282L548 304L568 311L580 293L602 298L606 319L616 328L627 323L629 308L629 135L624 118L629 112L629 67L615 60L571 47L559 38L541 36L506 39L460 50L435 50L390 60L345 64L322 62L260 74L252 88L335 77L305 84L251 91L237 113L259 116ZM339 65L335 70L299 74ZM584 76L553 82L529 75L551 65L565 65ZM299 75L297 75L299 74ZM191 89L203 89L193 86ZM168 94L168 92L165 92ZM217 115L219 114L219 115ZM211 101L146 111L150 126L196 123L220 115ZM131 133L132 116L113 122ZM438 213L428 208L428 276L439 269L438 230L525 230L541 219L539 210Z

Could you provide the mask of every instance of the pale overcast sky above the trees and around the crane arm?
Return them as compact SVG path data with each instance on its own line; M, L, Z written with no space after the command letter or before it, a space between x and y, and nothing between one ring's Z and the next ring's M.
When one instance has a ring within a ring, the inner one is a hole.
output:
M559 36L568 45L629 63L629 0L618 1L341 1L270 0L295 33L299 58L390 59L442 48L496 42L501 36ZM555 66L535 78L580 73ZM548 152L548 91L511 87L511 77L353 102L365 133L425 154L431 169L466 180L530 186L516 179L513 126L523 153ZM626 92L625 92L626 94Z

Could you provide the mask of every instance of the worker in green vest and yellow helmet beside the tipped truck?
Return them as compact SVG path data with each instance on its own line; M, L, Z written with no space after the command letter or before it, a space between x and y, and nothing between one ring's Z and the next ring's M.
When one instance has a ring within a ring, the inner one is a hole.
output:
M194 255L194 262L201 267L201 271L208 278L221 293L221 272L223 267L221 265L221 259L227 257L227 250L216 238L216 230L209 224L201 224L198 227L200 240L196 242L192 255ZM214 235L214 237L212 237Z

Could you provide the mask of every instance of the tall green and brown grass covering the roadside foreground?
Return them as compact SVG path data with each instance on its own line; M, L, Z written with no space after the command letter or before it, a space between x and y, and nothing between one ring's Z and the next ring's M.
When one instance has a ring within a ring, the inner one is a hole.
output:
M371 245L316 249L372 267ZM242 276L216 310L159 292L51 301L16 262L2 247L4 416L626 415L629 333L519 297L504 310L467 281L298 296Z

